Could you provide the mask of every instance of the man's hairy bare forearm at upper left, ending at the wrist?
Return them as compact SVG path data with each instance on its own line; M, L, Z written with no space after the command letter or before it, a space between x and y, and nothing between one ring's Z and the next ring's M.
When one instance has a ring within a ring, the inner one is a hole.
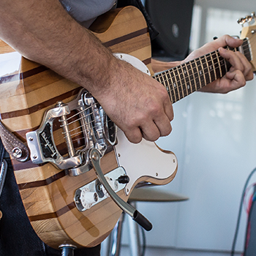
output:
M115 58L67 14L59 0L4 0L0 8L0 37L23 56L92 93L108 83L105 69Z

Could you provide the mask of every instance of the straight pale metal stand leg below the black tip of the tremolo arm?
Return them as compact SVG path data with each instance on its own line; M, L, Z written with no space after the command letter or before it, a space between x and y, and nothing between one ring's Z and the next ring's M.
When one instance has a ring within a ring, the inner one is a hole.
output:
M135 202L129 202L132 206L136 206ZM140 256L140 234L138 224L131 218L129 221L129 241L130 241L130 255Z

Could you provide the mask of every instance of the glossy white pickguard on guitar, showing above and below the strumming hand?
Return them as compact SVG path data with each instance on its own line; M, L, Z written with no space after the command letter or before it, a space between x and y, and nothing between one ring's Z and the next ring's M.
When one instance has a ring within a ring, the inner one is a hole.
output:
M134 56L123 53L115 53L115 55L150 75L146 65ZM118 129L117 139L116 156L119 165L124 167L127 176L129 176L129 183L126 187L127 195L135 181L140 177L149 176L164 179L170 177L176 171L178 162L175 154L161 151L155 143L144 139L138 144L130 143L120 129Z

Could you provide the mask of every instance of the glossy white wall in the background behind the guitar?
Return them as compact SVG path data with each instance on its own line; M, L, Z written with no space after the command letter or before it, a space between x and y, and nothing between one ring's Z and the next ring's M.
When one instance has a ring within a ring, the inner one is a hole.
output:
M197 0L196 4L203 25L202 34L192 34L194 45L226 33L239 34L241 27L236 19L255 8L252 0ZM216 8L225 11L218 16ZM234 18L234 13L239 16ZM211 18L217 18L215 26ZM226 95L195 93L174 105L173 132L159 140L159 145L176 153L178 174L161 189L181 192L189 200L138 204L154 224L154 229L146 233L148 245L230 250L241 192L256 167L255 86L256 80ZM238 250L244 246L245 224L243 214Z

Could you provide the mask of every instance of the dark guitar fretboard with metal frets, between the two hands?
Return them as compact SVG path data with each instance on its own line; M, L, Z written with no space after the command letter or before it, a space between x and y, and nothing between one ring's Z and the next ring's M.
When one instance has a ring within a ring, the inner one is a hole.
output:
M249 39L247 38L244 39L240 48L230 50L239 50L246 56L246 59L252 60ZM230 63L219 55L218 50L215 50L178 67L158 73L153 78L165 86L171 102L175 103L208 83L222 78L230 67Z

